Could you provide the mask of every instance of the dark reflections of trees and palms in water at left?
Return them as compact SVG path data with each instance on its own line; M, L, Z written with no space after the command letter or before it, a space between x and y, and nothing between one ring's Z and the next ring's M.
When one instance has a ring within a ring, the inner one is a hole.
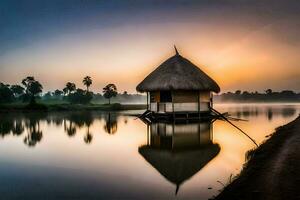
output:
M54 124L63 127L65 133L71 138L81 129L86 129L83 141L90 144L93 133L90 127L95 120L104 120L104 131L109 134L117 132L117 115L114 113L69 112L69 113L28 113L0 115L0 137L8 135L24 136L24 144L34 147L41 142L43 130L41 123Z

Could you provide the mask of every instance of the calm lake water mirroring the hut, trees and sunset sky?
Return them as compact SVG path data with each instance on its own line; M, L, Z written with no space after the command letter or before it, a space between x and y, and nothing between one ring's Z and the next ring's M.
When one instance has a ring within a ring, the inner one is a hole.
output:
M257 143L300 104L215 104ZM209 199L254 143L225 121L157 123L128 114L0 114L1 199Z

